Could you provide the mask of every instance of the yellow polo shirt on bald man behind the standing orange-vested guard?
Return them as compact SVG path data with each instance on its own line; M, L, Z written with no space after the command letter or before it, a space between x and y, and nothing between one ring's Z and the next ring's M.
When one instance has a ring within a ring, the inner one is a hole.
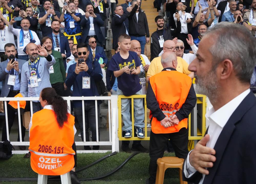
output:
M176 70L180 73L184 73L186 75L191 72L188 70L188 63L182 59L181 57L177 57L177 68ZM163 66L161 64L161 56L154 58L148 68L147 77L152 77L153 75L160 73L163 70Z

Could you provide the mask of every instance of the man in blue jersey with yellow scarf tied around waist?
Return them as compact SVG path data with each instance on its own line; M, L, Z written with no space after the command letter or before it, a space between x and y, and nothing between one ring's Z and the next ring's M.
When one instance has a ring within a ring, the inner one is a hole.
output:
M66 12L66 13L65 13ZM64 14L65 13L65 14ZM68 6L63 7L62 14L60 16L60 22L65 23L65 32L64 35L71 37L74 40L74 44L81 43L81 26L80 26L80 19L82 14L76 13L76 5L75 3L71 2Z

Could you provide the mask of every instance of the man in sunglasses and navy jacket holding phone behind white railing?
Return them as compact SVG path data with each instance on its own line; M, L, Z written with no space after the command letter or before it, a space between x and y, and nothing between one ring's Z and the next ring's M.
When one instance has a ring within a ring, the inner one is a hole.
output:
M89 50L86 44L81 43L77 45L77 54L78 54L78 62L72 64L68 68L67 78L66 78L66 85L70 88L73 85L73 96L99 96L96 82L102 79L102 72L100 69L100 64L98 62L93 63L89 56ZM80 62L80 63L79 63ZM79 63L79 64L78 64ZM87 81L89 83L87 83ZM98 120L99 118L99 104L101 101L98 101ZM80 133L81 138L84 141L84 131L83 131L83 109L82 109L82 101L75 100L73 102L75 108L75 114L80 126ZM91 130L91 139L92 141L97 141L96 135L96 112L95 112L95 101L94 100L85 100L84 101L84 111L85 116L85 141L89 141L89 132L88 128L90 127ZM99 124L98 124L98 135L99 132ZM98 137L98 140L99 137ZM90 146L84 146L85 150L90 150ZM93 146L93 150L98 150L99 146Z

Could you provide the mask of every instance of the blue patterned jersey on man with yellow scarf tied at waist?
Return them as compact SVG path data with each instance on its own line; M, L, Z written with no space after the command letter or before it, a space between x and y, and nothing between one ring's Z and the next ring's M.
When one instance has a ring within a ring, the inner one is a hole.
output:
M74 13L74 15L81 19L82 14ZM68 35L75 35L75 34L81 33L80 21L76 22L74 20L74 18L69 13L64 14L64 21L65 21L65 32ZM70 28L70 24L69 24L70 21L74 21L74 24L75 24L74 28ZM80 39L82 39L82 37L76 36L76 39L80 40Z

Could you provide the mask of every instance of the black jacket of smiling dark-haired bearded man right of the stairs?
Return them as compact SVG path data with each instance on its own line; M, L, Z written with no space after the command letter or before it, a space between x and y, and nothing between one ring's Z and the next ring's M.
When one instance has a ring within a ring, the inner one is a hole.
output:
M163 28L163 39L166 40L172 40L173 34L178 34L181 31L181 23L180 21L177 21L177 28L176 29L170 29L170 28ZM158 57L159 53L163 50L163 48L159 45L159 35L158 35L158 29L152 33L151 35L151 44L150 44L150 61L152 61L154 58Z

